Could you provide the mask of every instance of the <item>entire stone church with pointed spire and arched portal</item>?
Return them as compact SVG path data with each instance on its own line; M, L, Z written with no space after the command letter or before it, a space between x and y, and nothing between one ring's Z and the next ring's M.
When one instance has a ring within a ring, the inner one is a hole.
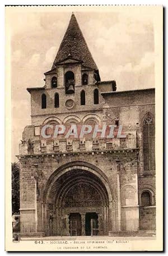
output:
M21 235L155 232L155 89L101 81L73 13L44 75L44 86L27 88L31 125L17 156ZM45 140L45 124L122 125L126 136Z

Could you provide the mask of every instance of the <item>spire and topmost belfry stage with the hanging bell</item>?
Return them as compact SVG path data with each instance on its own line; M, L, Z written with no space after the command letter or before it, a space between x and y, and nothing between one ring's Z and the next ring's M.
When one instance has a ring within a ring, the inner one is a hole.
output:
M72 13L52 70L45 73L45 86L46 88L64 87L65 94L74 94L76 86L95 84L99 81L99 70Z

